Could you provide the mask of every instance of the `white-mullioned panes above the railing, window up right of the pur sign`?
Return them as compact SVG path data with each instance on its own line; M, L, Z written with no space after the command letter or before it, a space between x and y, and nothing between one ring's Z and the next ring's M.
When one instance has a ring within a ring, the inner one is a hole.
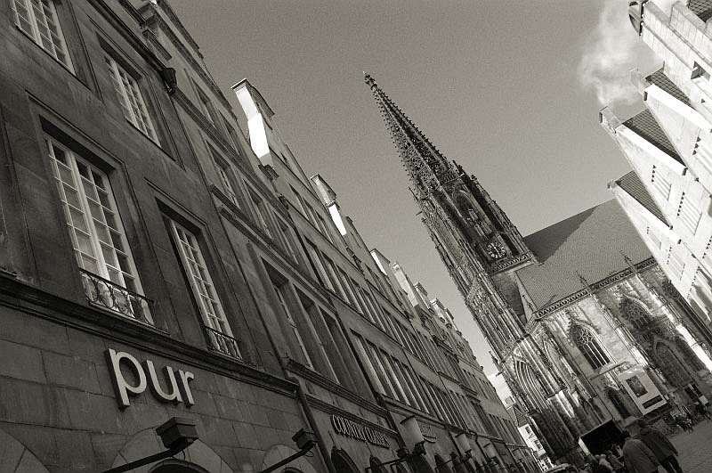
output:
M175 246L181 257L183 269L188 276L190 289L198 303L203 322L209 329L232 337L230 323L225 316L223 304L218 298L213 279L207 271L203 253L198 246L198 239L174 220L170 221L170 225Z

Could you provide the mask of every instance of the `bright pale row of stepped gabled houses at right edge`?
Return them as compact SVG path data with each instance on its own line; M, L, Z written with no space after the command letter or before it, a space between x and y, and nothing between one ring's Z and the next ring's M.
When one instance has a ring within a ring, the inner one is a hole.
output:
M632 80L645 110L621 120L606 108L602 126L633 168L610 184L676 290L709 326L712 307L712 154L709 132L712 2L677 2L669 12L635 3L635 32L661 60L662 69ZM638 189L643 187L644 195Z

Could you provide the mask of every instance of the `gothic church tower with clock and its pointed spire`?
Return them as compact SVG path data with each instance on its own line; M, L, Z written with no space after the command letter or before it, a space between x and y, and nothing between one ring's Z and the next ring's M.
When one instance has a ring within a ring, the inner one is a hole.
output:
M534 257L474 175L448 161L365 75L409 175L422 220L457 289L501 360L523 336L521 297L507 277Z

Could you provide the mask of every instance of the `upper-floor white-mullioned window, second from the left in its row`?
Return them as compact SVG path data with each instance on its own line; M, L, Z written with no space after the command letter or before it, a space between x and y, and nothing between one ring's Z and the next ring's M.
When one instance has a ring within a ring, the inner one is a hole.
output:
M117 93L118 102L121 104L121 110L124 111L124 117L141 130L143 135L158 143L156 129L150 120L149 110L146 108L146 102L143 100L136 79L107 53L104 53L104 62L109 68L111 82L114 84L114 90Z

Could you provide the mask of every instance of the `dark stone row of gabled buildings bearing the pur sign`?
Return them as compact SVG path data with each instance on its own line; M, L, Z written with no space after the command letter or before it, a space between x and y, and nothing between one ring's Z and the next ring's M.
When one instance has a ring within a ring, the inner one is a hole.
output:
M198 440L135 471L261 471L300 429L316 445L282 470L534 471L447 309L242 81L247 139L166 1L2 0L0 21L11 471L120 467L174 417Z

